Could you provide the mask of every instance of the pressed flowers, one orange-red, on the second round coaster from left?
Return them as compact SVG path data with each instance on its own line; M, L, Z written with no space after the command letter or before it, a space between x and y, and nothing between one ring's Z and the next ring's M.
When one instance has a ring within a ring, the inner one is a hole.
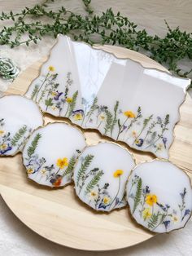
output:
M24 166L27 169L27 174L29 178L33 174L40 173L41 178L45 177L46 181L49 181L50 187L60 187L67 183L72 182L72 170L76 164L77 155L81 152L76 149L76 153L68 159L67 157L59 158L55 163L51 165L46 164L46 159L44 157L39 157L36 153L36 149L41 139L41 134L37 133L33 141L27 148L28 157L24 157ZM62 184L63 179L65 183Z

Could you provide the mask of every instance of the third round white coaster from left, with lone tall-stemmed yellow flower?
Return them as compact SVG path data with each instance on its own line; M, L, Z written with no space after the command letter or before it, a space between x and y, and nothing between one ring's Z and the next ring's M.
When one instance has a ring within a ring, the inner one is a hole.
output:
M76 195L94 210L123 207L125 183L134 166L131 154L116 143L89 146L74 169Z

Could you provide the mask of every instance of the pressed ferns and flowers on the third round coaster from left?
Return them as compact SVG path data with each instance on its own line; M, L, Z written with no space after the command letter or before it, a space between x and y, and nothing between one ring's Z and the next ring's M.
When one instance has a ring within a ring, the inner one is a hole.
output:
M127 205L125 195L120 198L120 185L121 175L124 174L124 170L116 170L112 174L114 179L118 180L118 188L116 196L112 197L108 192L110 183L104 183L103 186L99 184L103 177L103 170L97 166L89 168L91 162L94 159L94 155L88 154L85 157L81 157L81 166L77 171L76 178L74 178L76 194L81 198L84 196L84 202L88 198L88 205L94 208L94 210L111 211L116 208L121 208Z

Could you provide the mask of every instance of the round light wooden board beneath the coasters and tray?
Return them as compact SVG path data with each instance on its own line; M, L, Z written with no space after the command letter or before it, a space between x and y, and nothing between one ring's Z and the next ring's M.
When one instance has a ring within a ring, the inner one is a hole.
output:
M134 51L117 46L97 46L120 58L131 58L145 67L164 67ZM7 94L23 95L37 77L42 62L33 64L21 73ZM63 121L46 115L49 121ZM181 121L175 128L176 138L170 149L170 160L192 178L192 101L187 95L181 106ZM103 139L98 133L86 131L87 143ZM131 150L137 163L151 160L150 154ZM0 192L12 212L34 232L60 245L86 250L121 249L150 239L154 234L133 222L127 208L111 214L90 210L76 198L72 185L66 188L44 188L27 179L21 154L0 158Z

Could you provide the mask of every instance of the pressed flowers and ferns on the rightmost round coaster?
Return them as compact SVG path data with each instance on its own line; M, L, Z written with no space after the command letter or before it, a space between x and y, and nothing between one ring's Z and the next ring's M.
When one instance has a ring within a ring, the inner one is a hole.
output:
M135 193L133 193L133 188L136 188ZM134 174L128 192L128 202L129 200L133 201L131 214L134 216L138 212L144 226L152 232L158 232L156 228L159 226L164 227L164 232L168 232L172 223L183 222L185 218L190 218L191 210L185 207L186 193L186 188L183 188L178 195L181 198L181 203L172 208L166 202L159 202L158 195L155 195L149 186L144 186L142 178Z

